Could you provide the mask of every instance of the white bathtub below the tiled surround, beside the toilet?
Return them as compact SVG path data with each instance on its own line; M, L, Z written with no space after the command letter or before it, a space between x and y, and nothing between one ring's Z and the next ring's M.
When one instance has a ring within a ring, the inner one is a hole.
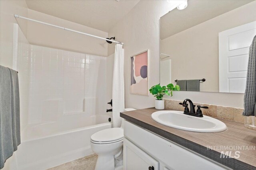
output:
M45 170L92 154L90 136L112 127L108 115L65 115L58 121L30 125L10 170Z

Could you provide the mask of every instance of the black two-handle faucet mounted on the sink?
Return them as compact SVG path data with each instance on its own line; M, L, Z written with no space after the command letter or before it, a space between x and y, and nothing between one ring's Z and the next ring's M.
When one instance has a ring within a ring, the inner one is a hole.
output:
M189 102L189 104L190 104L190 109L188 109L187 102ZM197 110L195 111L195 105L193 104L193 102L190 99L185 99L183 101L183 103L179 103L179 104L182 105L183 107L185 107L184 114L196 116L196 117L203 117L202 110L200 108L208 109L207 106L198 105Z

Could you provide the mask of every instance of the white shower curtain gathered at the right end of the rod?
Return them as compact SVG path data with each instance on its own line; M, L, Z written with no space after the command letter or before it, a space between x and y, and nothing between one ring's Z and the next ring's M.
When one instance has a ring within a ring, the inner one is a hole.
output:
M116 44L114 57L112 86L113 126L120 127L120 112L124 111L124 49L122 44Z

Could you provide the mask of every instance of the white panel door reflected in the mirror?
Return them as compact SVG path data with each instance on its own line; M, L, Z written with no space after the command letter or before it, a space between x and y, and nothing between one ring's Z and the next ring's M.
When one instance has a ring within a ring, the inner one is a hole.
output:
M220 92L244 93L248 52L256 35L256 21L219 33Z

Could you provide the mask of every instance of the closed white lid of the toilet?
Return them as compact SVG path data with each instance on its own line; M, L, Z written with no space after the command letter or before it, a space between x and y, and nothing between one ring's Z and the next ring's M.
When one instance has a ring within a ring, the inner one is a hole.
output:
M96 142L108 142L108 141L116 141L118 139L122 139L124 137L124 129L120 127L114 127L110 129L104 129L94 133L91 136L92 141Z

